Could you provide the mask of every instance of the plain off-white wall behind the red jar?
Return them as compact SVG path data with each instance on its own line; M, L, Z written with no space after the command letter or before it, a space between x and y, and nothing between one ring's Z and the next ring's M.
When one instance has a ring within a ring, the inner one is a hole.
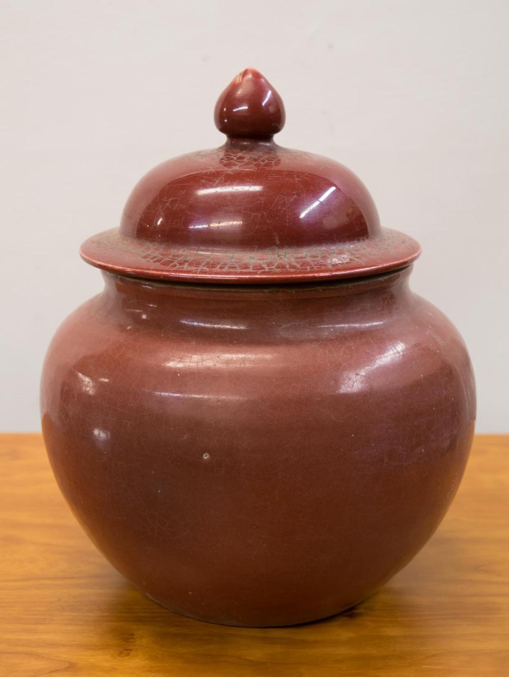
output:
M1 3L3 431L39 429L58 324L102 288L77 251L143 173L222 143L217 96L258 68L278 142L345 163L422 245L414 290L456 324L481 432L509 432L507 0Z

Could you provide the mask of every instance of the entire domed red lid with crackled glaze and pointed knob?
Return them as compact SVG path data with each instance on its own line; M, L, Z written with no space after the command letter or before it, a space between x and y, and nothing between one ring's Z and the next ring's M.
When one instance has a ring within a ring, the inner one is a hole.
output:
M135 186L120 227L87 240L85 261L155 280L305 282L378 274L418 257L415 240L381 228L348 169L278 146L280 95L248 68L223 91L223 146L163 162Z

